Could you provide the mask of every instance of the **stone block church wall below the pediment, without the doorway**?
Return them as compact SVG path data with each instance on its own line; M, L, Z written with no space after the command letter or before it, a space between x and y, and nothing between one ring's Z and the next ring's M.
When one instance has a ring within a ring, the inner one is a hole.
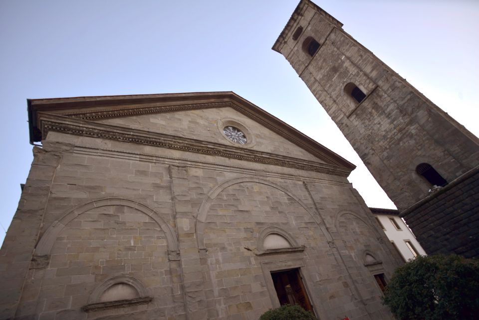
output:
M392 319L373 274L399 258L344 176L54 131L34 154L0 319L256 320L292 268L321 319ZM267 228L297 248L262 251Z

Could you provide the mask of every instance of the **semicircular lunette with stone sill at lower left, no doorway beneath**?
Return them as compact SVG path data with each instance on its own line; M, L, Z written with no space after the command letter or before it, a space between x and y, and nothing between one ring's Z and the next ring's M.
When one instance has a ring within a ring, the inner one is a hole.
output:
M129 276L119 275L106 279L91 293L85 312L125 308L149 304L149 297L143 284Z

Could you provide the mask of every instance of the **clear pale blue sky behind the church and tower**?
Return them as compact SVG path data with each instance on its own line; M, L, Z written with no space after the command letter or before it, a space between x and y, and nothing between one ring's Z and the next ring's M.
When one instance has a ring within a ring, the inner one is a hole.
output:
M234 91L356 164L349 180L369 206L394 208L271 50L297 2L0 0L1 225L15 213L32 160L26 99L89 95ZM479 1L316 4L479 135Z

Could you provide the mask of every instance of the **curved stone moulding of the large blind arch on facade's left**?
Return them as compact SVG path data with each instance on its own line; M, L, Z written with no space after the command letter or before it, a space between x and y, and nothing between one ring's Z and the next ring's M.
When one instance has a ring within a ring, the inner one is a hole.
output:
M175 236L173 228L170 227L170 225L168 225L155 211L153 211L152 209L148 208L147 206L135 200L126 199L126 198L105 198L105 199L94 200L82 206L79 206L71 210L67 214L65 214L59 220L54 221L51 224L51 226L48 227L48 229L46 230L46 232L43 234L40 241L38 242L35 248L35 255L36 256L49 255L51 248L53 244L55 243L56 238L58 237L60 232L63 230L63 228L65 228L65 226L70 221L72 221L73 219L81 215L82 213L85 213L91 209L105 207L105 206L126 206L126 207L139 210L143 212L144 214L148 215L150 218L155 220L155 222L160 226L160 228L165 233L167 244L168 244L168 251L170 253L178 252L179 250L178 240Z

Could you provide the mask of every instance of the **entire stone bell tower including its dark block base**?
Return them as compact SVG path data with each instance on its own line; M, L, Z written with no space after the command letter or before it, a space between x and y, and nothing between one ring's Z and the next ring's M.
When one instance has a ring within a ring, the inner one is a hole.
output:
M479 139L342 25L301 0L272 49L306 83L426 252L479 257Z

